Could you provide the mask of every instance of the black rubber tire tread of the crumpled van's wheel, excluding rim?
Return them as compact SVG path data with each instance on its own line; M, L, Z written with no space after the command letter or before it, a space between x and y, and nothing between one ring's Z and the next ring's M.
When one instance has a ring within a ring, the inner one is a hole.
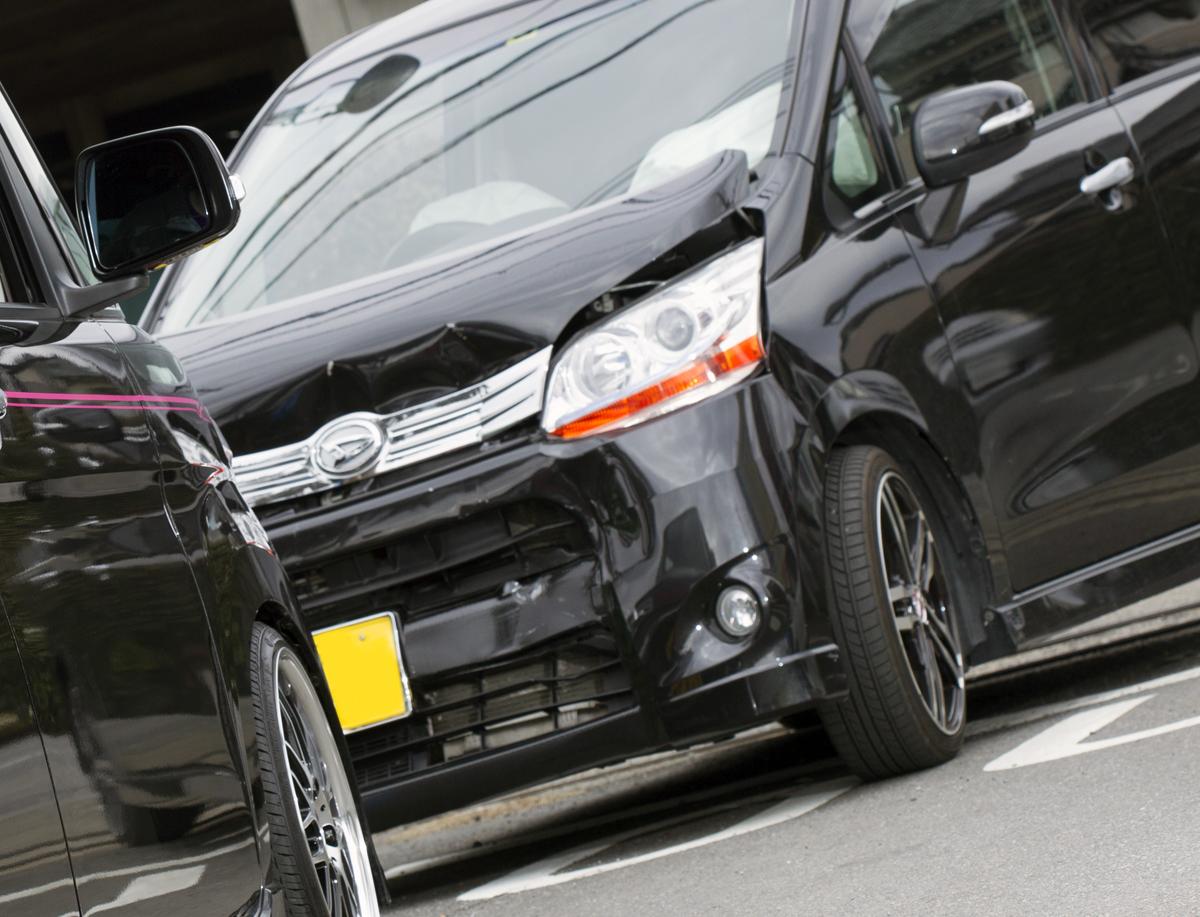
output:
M936 538L936 514L923 489L883 450L858 445L838 449L826 479L830 619L850 696L821 705L818 713L842 761L866 780L944 763L959 753L964 732L960 727L947 736L925 709L889 619L887 593L881 592L874 498L888 471L900 473L908 484L935 526Z

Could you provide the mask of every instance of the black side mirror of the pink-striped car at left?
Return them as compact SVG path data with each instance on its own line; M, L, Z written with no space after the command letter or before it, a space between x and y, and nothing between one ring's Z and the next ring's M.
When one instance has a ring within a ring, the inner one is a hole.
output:
M220 239L241 212L236 187L216 145L194 127L84 150L76 208L96 276L139 274Z

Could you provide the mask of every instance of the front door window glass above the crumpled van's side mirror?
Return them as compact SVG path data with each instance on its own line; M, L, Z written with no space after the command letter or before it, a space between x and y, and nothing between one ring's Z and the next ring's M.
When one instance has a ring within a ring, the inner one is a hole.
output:
M931 95L1004 79L1039 116L1084 97L1050 0L854 0L850 25L908 179L913 115Z

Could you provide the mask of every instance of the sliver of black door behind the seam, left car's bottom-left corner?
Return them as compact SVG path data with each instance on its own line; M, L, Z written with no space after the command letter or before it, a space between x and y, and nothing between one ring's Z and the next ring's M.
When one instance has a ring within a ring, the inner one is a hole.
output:
M37 684L40 693L53 685ZM0 913L78 913L62 821L17 646L0 607Z

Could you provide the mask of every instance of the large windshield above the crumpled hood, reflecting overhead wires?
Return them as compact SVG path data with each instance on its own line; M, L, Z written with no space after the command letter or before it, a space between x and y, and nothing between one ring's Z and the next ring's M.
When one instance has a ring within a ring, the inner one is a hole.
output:
M301 78L235 163L238 228L176 269L160 330L520 232L726 149L755 166L794 5L541 0Z

